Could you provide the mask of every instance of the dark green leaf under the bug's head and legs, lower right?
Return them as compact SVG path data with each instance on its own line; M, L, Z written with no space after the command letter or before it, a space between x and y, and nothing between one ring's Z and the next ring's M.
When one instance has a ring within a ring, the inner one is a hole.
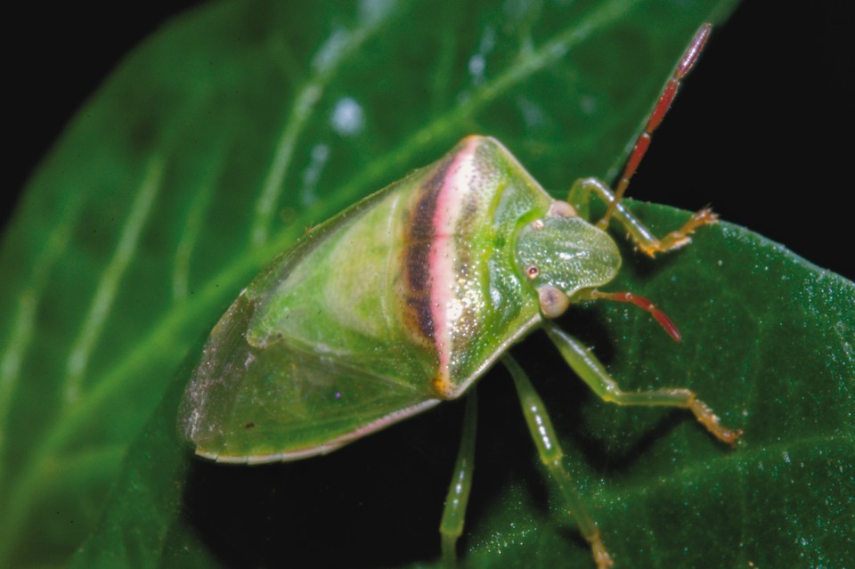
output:
M686 212L636 210L660 229ZM515 348L552 413L566 464L622 567L845 566L851 552L855 285L730 224L615 289L662 299L676 345L646 314L574 309L562 324L627 388L691 386L736 449L687 413L600 402L542 334ZM329 457L272 467L190 460L175 441L189 370L132 446L77 566L439 566L436 526L461 426L448 403ZM466 566L592 567L538 465L507 373L479 384ZM428 563L432 562L432 563Z

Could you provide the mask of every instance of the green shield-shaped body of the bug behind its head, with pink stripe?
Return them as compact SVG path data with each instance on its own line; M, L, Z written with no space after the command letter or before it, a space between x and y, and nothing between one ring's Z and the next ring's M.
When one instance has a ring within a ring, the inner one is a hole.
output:
M322 454L462 394L541 319L514 248L521 218L552 199L521 173L499 142L470 137L280 256L217 324L191 380L197 452Z

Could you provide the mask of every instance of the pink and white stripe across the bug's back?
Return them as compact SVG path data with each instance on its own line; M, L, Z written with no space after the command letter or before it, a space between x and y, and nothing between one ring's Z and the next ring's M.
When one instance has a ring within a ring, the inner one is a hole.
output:
M457 251L454 233L463 205L468 197L469 183L476 174L475 150L477 136L469 136L466 145L446 171L442 190L436 197L434 241L428 254L430 271L430 309L434 321L434 343L439 356L439 377L434 387L441 395L450 396L449 363L452 354L452 327L460 314L460 299L456 295Z

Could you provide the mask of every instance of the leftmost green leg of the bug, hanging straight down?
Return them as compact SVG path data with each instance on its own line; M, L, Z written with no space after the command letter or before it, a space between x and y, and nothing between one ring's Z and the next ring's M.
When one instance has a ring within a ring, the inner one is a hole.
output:
M475 471L475 435L478 415L476 393L466 398L466 412L463 417L463 434L460 436L460 450L454 463L452 484L448 486L443 508L443 520L439 524L439 533L443 541L443 565L453 569L457 560L457 540L463 533L466 505L469 501L469 489L472 487L472 475Z

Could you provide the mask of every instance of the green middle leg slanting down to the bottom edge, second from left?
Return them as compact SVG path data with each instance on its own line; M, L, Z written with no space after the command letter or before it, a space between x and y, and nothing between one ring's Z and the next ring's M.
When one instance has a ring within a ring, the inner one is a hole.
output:
M555 435L555 430L552 428L552 421L546 412L546 407L540 395L534 391L532 382L525 371L519 366L509 354L501 356L501 362L510 371L510 375L514 378L514 384L517 386L517 394L519 402L523 406L523 414L525 415L525 423L528 425L529 431L532 433L532 439L537 451L541 455L541 460L549 469L550 475L558 484L570 516L579 524L579 529L582 535L590 543L590 549L594 556L594 561L597 563L598 569L607 569L612 566L612 558L609 557L606 547L599 535L599 528L590 516L588 508L582 503L579 498L579 493L573 481L570 479L570 474L564 467L562 459L564 452L561 451L561 446L558 444L558 437Z

